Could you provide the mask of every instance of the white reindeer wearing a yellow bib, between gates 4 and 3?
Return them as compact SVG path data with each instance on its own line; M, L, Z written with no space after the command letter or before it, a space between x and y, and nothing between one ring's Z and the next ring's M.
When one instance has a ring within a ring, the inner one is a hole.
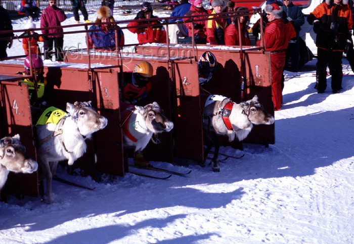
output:
M66 111L58 124L37 125L37 156L46 179L47 191L44 200L54 202L52 177L55 175L58 162L68 159L72 165L76 159L86 152L85 139L91 139L94 132L107 126L107 118L98 114L89 102L66 103Z

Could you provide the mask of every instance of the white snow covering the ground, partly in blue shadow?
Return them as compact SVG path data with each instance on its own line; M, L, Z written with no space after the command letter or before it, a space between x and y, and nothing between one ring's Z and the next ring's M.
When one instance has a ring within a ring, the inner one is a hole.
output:
M13 23L20 29L24 21ZM124 33L127 43L136 42ZM18 43L9 51L22 53ZM152 162L192 170L166 180L127 173L96 182L59 167L60 177L96 189L53 181L51 205L8 196L0 203L0 243L354 243L354 74L343 58L349 75L342 92L331 93L329 78L326 93L317 94L315 69L316 59L302 72L285 72L274 145L221 148L245 155L220 162L219 173L192 160Z

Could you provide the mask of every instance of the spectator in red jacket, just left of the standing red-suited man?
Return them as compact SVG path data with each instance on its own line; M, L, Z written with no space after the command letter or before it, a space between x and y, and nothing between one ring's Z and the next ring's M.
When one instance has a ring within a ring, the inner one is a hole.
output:
M236 8L236 11L247 10L245 7ZM248 24L249 24L249 16L240 16L234 17L232 23L225 30L225 45L234 46L240 45L239 33L238 33L238 20L241 25L241 42L242 45L249 46L251 45L251 41L248 35Z

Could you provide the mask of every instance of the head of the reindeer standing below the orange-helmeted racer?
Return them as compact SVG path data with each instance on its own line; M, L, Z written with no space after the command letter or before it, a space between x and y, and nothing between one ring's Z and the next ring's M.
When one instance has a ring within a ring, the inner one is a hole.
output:
M136 106L136 109L145 118L146 128L153 133L169 132L173 129L173 122L163 113L157 102L150 103L144 107Z

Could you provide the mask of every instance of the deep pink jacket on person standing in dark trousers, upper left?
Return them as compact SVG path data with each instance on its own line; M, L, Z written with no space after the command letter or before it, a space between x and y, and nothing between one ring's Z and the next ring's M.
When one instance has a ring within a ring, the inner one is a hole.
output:
M40 18L40 28L60 26L60 23L64 20L66 20L66 15L62 9L53 9L51 6L48 6L42 11L42 15ZM57 34L60 32L63 32L63 28L42 30L42 34L51 34L49 36L43 36L43 38L63 37L63 34Z

